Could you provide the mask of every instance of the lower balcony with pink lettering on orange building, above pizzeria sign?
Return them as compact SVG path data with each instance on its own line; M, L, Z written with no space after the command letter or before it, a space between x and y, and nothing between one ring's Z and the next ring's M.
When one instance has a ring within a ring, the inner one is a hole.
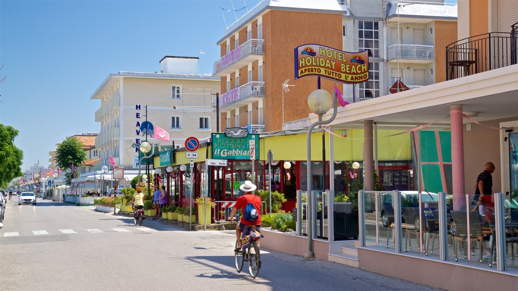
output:
M236 89L221 94L220 110L225 109L225 111L227 111L236 109L265 97L264 82L248 82ZM247 102L242 102L244 100ZM212 103L215 104L215 99L212 100Z

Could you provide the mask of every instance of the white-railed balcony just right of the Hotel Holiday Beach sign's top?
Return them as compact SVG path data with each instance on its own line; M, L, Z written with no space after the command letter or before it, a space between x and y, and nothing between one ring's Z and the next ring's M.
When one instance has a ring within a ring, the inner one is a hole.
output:
M389 63L431 63L435 61L435 49L424 45L391 45L387 49L387 60Z

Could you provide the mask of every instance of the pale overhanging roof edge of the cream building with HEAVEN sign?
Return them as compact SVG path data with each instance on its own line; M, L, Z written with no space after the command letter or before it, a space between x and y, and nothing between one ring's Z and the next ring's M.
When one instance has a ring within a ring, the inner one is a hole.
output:
M149 79L170 79L170 80L190 80L190 81L220 81L219 76L212 76L211 74L165 74L159 72L126 72L119 71L119 74L110 74L104 82L95 90L90 96L90 99L100 99L97 94L103 91L103 88L110 88L111 85L117 84L117 79L120 78L149 78Z

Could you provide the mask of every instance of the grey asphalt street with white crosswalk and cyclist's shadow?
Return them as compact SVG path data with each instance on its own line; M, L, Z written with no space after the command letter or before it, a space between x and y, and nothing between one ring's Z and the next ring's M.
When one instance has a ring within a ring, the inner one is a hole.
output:
M39 199L7 203L0 289L437 290L322 260L261 251L256 279L234 267L234 231L183 228ZM263 239L268 239L267 237Z

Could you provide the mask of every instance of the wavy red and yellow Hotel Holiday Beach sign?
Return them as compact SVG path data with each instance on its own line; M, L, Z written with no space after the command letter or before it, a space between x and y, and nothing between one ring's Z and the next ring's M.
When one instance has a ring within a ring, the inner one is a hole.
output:
M344 52L314 43L296 47L295 79L319 76L342 83L362 83L369 79L369 54Z

